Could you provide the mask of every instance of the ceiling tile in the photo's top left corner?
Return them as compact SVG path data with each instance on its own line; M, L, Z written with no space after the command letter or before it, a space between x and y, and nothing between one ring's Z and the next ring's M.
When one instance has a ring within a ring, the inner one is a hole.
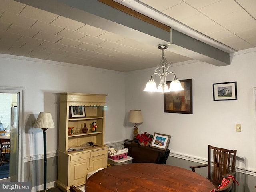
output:
M12 0L0 0L0 10L5 10L14 14L19 14L26 6L23 3Z

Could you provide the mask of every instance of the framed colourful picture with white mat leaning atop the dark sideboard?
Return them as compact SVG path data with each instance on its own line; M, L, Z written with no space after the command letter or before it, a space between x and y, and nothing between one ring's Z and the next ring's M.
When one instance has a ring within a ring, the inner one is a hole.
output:
M150 147L166 151L170 142L170 135L154 133Z

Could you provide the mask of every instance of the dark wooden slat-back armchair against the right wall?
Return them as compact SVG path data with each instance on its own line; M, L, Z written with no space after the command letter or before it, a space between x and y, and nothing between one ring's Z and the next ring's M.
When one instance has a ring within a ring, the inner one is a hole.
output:
M212 156L211 156L212 155ZM213 160L211 164L211 160ZM196 168L208 167L208 180L218 187L222 181L222 175L234 172L236 163L236 150L229 150L208 146L208 164L190 166L195 172ZM213 171L211 172L211 167Z

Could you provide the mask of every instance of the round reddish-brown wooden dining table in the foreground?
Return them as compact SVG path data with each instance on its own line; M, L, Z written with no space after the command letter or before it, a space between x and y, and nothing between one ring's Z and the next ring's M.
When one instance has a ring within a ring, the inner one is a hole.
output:
M153 163L130 163L94 173L86 192L210 192L215 187L190 170Z

